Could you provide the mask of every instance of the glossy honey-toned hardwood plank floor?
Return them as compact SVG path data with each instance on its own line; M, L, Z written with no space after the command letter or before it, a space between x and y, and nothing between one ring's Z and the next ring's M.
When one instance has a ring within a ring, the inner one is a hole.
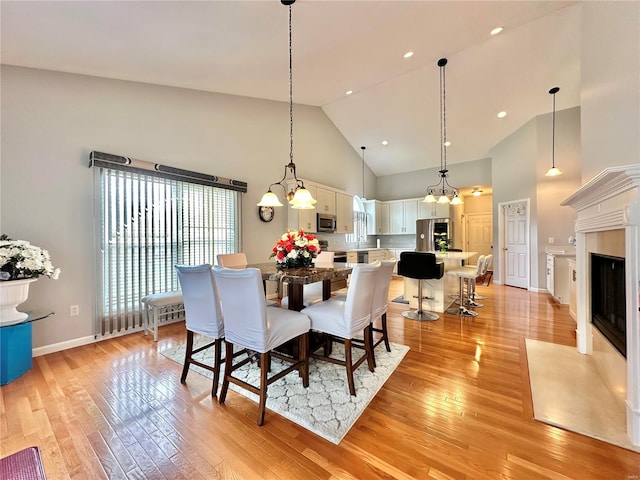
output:
M389 304L392 342L411 350L338 446L229 392L159 351L184 325L34 359L0 389L0 456L37 445L49 479L620 479L640 454L533 420L525 338L575 345L567 306L478 287L480 315L436 322ZM390 299L402 293L392 282Z

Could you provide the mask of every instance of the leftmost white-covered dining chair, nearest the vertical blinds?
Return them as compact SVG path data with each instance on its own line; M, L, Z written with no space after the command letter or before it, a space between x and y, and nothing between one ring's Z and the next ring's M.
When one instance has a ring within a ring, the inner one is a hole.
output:
M184 352L184 366L180 383L185 383L191 364L213 372L211 396L218 391L220 365L222 362L222 340L224 339L224 321L218 291L216 290L211 265L176 265L178 281L182 289L182 300L185 309L185 323L187 327L187 346ZM213 342L193 349L194 334L211 337ZM193 358L198 352L213 347L213 366L202 363Z

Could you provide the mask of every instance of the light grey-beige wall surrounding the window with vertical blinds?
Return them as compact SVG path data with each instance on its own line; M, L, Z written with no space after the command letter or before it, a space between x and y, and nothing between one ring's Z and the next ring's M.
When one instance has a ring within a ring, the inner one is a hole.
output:
M286 210L265 224L256 202L289 162L287 103L6 65L1 81L0 231L48 249L62 268L22 306L56 312L34 324L34 347L94 333L91 150L248 182L244 250L268 260ZM362 191L360 152L320 108L295 105L294 160L303 178ZM69 317L71 304L80 316Z

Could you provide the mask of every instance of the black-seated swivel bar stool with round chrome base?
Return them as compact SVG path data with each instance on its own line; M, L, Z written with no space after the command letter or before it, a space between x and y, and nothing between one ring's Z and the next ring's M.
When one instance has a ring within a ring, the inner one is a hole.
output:
M398 262L398 275L418 280L418 309L402 312L402 316L412 320L438 320L433 312L422 309L422 281L436 280L444 275L444 263L437 263L436 256L428 252L402 252Z

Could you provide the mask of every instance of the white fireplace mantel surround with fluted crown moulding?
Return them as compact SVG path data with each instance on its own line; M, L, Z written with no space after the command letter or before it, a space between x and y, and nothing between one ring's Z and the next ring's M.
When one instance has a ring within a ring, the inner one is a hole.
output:
M627 434L640 446L640 164L607 168L562 202L577 212L576 322L580 353L592 353L587 235L624 230Z

